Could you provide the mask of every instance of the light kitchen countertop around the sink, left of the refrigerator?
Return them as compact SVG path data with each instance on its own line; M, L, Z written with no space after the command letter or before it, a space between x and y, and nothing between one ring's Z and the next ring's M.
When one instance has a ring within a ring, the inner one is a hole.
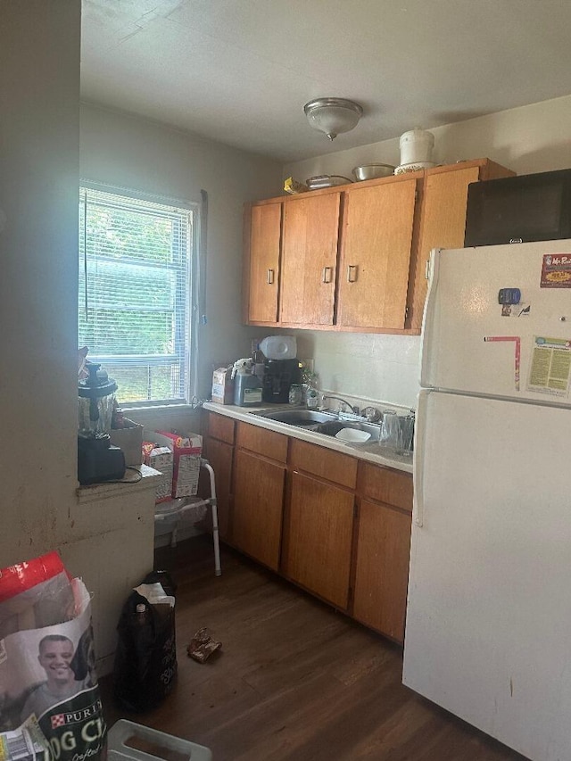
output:
M267 428L269 431L276 431L278 434L285 434L294 439L301 439L303 442L310 442L325 447L326 449L343 452L350 457L367 460L375 465L384 467L393 467L395 470L403 470L405 473L412 473L412 455L403 456L397 454L394 450L379 444L378 442L365 444L344 443L336 439L335 436L317 434L314 431L307 431L304 428L290 426L287 423L281 423L278 420L261 418L253 413L263 412L265 410L275 411L277 409L292 409L289 405L263 405L259 407L237 407L234 404L216 404L213 401L205 401L203 408L209 412L217 412L227 418L242 420L244 423L251 423L252 426ZM305 408L300 408L305 409Z

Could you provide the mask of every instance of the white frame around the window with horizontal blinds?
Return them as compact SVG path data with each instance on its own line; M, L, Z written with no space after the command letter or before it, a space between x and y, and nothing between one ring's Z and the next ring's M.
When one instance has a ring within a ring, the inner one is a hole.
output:
M91 190L104 194L112 194L125 198L126 200L144 201L145 203L155 203L157 205L171 206L183 211L188 211L191 214L191 222L189 224L189 230L187 235L187 247L188 247L188 260L187 260L187 277L188 282L186 285L186 293L184 295L185 309L186 309L186 325L178 326L175 332L175 342L180 341L180 331L186 328L186 352L184 356L184 366L182 372L184 372L184 389L186 396L177 397L172 399L161 400L145 400L138 401L121 401L121 407L123 409L145 409L145 408L161 408L170 406L181 405L193 405L196 399L196 383L197 375L196 368L198 367L198 330L197 330L197 316L199 313L198 302L200 297L200 279L202 273L202 259L203 252L201 247L201 223L203 221L203 203L194 201L182 200L171 196L164 196L159 194L149 194L143 191L135 190L129 187L112 186L93 180L81 178L79 180L79 204L82 203L82 193L84 190ZM79 263L81 260L85 264L85 231L79 230L79 241L84 241L83 251L79 245ZM178 275L178 277L181 277ZM79 294L81 297L81 294ZM84 297L85 304L85 297ZM79 329L79 310L81 306L78 302L78 329ZM178 335L177 335L178 334ZM153 363L159 364L161 358L165 355L129 355L128 357L121 357L119 354L89 354L88 360L100 362L105 367L105 364L120 364L125 368L128 368L129 364L141 364L144 361L146 364L153 365ZM119 361L118 361L119 360Z

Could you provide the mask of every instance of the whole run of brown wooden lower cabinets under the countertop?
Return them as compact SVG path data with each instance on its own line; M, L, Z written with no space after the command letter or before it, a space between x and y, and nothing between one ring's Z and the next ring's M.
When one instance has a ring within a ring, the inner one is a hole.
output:
M220 537L402 642L412 476L216 413L209 418L205 448Z

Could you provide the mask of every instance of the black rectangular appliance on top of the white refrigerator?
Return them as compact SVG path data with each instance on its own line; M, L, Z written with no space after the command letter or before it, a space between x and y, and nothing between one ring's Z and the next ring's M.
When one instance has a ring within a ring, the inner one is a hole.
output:
M571 169L473 182L464 245L571 238Z

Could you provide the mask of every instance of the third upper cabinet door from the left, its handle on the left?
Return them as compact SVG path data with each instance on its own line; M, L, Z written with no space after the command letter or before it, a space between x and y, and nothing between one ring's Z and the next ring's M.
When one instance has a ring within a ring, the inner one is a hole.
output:
M345 194L337 323L403 328L417 180Z

